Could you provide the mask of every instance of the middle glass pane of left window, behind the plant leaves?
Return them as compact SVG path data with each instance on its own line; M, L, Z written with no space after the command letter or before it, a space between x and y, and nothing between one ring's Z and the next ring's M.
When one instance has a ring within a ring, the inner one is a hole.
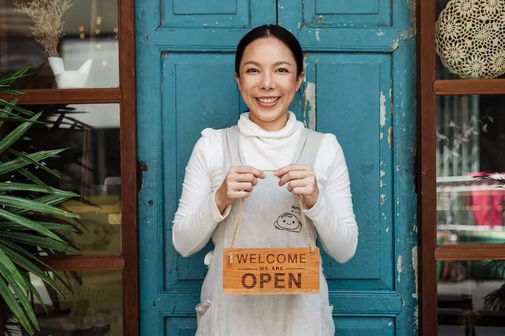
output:
M45 183L74 191L79 197L62 206L78 214L70 222L77 232L62 231L87 254L121 253L121 175L118 104L27 106L42 111L14 148L25 153L67 148L43 163L60 178L41 169L31 169Z

